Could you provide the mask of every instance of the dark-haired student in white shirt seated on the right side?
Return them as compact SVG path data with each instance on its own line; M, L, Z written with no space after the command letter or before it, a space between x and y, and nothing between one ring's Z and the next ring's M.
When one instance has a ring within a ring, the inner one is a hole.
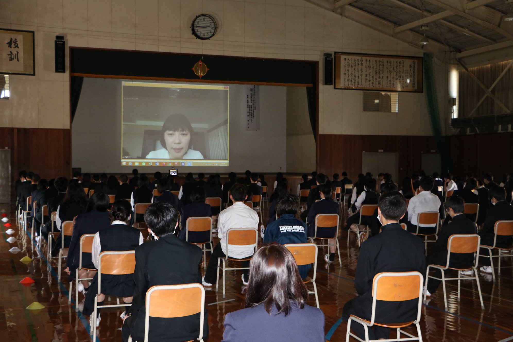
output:
M417 216L419 213L426 211L439 211L440 198L432 194L430 191L433 188L435 181L432 177L426 176L419 180L419 189L421 192L417 196L413 196L408 203L408 222L406 223L407 230L410 233L417 232ZM436 224L432 225L419 225L419 234L434 234Z

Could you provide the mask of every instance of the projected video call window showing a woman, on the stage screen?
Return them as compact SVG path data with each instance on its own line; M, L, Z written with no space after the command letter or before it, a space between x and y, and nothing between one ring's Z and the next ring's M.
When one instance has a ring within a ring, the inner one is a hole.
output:
M123 166L228 166L229 86L122 82Z

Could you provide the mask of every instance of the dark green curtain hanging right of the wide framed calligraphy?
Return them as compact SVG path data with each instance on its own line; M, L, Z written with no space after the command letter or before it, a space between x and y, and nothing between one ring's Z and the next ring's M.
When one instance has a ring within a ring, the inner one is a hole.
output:
M435 78L435 61L433 54L424 52L424 94L426 96L427 111L431 123L431 130L435 137L437 149L442 157L442 172L452 172L452 160L447 153L446 139L442 135L440 110L438 107L437 82Z

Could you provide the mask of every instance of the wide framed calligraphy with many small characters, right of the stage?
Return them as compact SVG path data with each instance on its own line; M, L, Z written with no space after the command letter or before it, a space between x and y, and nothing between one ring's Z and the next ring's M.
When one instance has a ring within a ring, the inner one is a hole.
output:
M335 89L422 92L422 57L335 52Z

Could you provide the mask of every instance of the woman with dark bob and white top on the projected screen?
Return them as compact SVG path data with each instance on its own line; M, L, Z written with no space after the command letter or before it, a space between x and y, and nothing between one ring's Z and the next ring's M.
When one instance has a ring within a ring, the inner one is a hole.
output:
M163 148L151 151L146 159L203 159L191 144L192 130L189 119L182 114L169 115L162 125L160 142Z

